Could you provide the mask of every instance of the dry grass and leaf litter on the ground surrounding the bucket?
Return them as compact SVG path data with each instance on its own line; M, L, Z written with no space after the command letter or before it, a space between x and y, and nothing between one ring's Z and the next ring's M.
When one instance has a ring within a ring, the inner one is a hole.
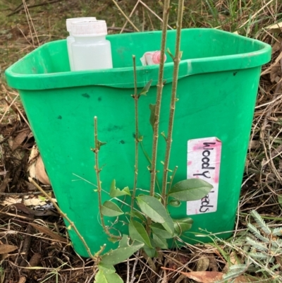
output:
M118 1L118 7L131 24L110 0L52 1L51 4L35 6L42 2L26 0L22 4L16 0L0 1L2 198L10 194L13 198L23 198L23 193L32 195L35 190L27 183L27 159L34 138L28 131L29 125L17 92L5 83L4 70L38 45L66 37L65 18L93 15L104 18L111 28L109 32L121 32L122 29L159 30L161 27L161 1ZM171 4L169 28L175 25L176 8L176 4ZM7 16L11 13L14 14ZM282 32L278 25L269 28L281 19L282 4L276 0L187 3L185 28L216 27L254 37L271 44L273 56L271 63L262 70L234 239L218 242L215 246L188 246L181 251L164 251L161 262L156 263L157 267L165 266L184 272L226 272L231 264L238 263L237 256L242 258L234 247L239 245L236 240L242 239L240 234L246 229L250 210L256 209L274 227L281 221ZM15 140L19 143L16 148ZM40 215L34 211L25 210L25 205L1 207L0 241L15 246L17 250L1 252L0 246L0 282L93 282L95 270L92 261L80 258L73 251L59 215ZM43 228L35 229L30 223ZM30 266L36 268L29 269ZM124 280L135 277L135 282L192 282L168 270L159 270L159 274L155 274L145 260L138 257L137 260L121 263L117 270ZM265 279L266 273L261 272L257 276ZM133 282L130 280L128 282Z

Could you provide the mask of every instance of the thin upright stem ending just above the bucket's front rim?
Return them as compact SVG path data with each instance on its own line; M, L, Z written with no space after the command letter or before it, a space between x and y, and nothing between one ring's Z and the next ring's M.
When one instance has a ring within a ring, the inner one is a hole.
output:
M135 174L133 184L133 194L131 197L131 212L133 212L133 205L135 201L135 193L137 188L137 177L138 177L138 144L139 144L139 128L138 128L138 100L137 95L137 75L136 75L136 58L133 55L133 76L134 76L134 102L135 102ZM132 216L130 216L130 219Z

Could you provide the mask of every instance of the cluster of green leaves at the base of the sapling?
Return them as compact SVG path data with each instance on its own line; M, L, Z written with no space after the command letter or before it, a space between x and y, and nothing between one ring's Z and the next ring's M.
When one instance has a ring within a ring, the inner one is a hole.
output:
M171 199L171 203L197 200L204 198L211 189L212 185L201 179L183 180L172 186L167 198ZM129 214L128 235L123 234L116 250L109 251L100 257L99 272L95 281L97 283L114 282L111 280L122 282L115 273L114 265L126 260L140 249L153 258L157 256L158 249L168 248L168 239L176 238L192 227L190 217L172 219L157 195L138 195L135 198L135 207L130 213L123 211L117 204L118 197L132 196L128 187L122 190L116 188L114 180L111 183L109 195L113 200L106 200L103 203L101 213L106 217ZM148 222L148 219L151 221Z

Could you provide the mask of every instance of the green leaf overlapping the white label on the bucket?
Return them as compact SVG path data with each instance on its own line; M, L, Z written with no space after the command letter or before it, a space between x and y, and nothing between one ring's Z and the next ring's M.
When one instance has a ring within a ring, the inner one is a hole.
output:
M187 179L176 183L168 195L176 200L190 201L204 198L214 188L201 179Z

